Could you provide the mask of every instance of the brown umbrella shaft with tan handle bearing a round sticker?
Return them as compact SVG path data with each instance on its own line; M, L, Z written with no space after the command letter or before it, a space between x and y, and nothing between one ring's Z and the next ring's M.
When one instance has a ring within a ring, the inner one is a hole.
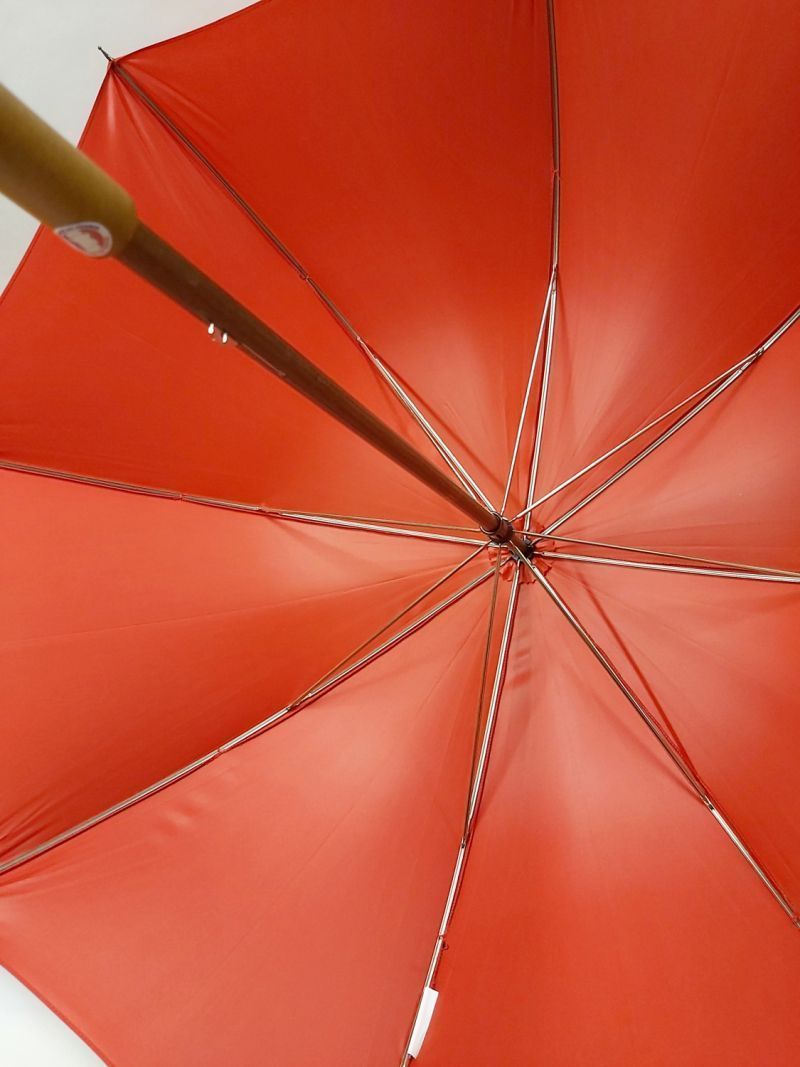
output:
M361 401L137 217L130 195L0 86L0 192L91 256L113 255L474 520L525 551L511 523L453 481Z

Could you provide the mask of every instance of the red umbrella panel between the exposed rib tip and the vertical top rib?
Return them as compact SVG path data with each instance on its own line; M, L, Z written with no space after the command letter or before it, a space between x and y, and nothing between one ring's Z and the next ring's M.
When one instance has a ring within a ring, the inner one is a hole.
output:
M544 12L263 3L124 61L496 497L548 275Z

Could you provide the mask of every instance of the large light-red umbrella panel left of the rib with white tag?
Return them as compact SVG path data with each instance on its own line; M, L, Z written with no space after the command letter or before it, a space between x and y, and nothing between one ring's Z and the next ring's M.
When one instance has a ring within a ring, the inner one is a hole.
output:
M115 1064L399 1062L463 828L486 600L6 876L6 966Z

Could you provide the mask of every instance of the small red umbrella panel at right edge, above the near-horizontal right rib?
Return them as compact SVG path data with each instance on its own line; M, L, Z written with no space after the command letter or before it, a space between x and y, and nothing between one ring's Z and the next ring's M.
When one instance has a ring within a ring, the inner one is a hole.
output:
M797 570L799 395L795 324L730 389L559 532Z

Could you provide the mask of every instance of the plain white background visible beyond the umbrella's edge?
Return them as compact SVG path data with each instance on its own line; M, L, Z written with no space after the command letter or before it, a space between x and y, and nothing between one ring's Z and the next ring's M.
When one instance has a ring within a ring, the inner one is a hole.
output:
M246 6L246 0L0 0L0 80L76 142L106 73L98 45L111 55L125 55ZM35 228L28 216L0 196L0 289ZM137 1024L146 1026L147 1020ZM0 967L2 1067L97 1067L99 1063Z

